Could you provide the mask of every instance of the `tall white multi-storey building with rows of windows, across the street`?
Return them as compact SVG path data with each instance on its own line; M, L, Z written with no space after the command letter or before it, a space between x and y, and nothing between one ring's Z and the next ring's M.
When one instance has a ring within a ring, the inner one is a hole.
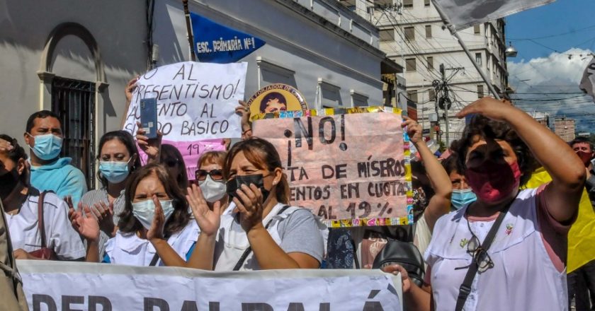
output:
M445 143L458 139L465 122L454 115L477 98L490 95L489 88L455 37L443 28L432 1L341 0L341 3L380 29L380 49L404 67L406 95L417 103L417 116L424 129L431 129L433 134L436 127L431 126L431 121L438 115L440 139ZM459 32L489 83L499 93L508 91L504 28L504 19L500 19ZM442 80L441 64L452 100L448 110L448 136L446 112L437 107L433 88L433 81Z

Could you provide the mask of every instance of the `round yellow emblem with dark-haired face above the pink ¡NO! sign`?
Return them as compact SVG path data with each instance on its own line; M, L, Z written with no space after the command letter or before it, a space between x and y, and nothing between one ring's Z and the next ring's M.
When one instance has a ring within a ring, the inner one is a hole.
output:
M248 100L251 119L262 119L264 115L278 115L283 111L305 111L308 104L304 96L293 86L283 83L261 88Z

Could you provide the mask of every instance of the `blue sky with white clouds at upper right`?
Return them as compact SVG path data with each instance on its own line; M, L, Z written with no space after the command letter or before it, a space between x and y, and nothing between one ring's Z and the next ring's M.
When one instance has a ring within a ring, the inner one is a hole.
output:
M578 87L595 52L594 13L594 0L557 0L506 17L506 41L519 51L508 58L515 105L595 133L595 102Z

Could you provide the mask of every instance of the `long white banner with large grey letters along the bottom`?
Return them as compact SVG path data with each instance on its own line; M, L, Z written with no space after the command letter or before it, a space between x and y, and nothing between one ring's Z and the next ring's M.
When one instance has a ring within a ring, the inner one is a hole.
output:
M30 310L400 311L400 276L380 270L213 272L18 260Z

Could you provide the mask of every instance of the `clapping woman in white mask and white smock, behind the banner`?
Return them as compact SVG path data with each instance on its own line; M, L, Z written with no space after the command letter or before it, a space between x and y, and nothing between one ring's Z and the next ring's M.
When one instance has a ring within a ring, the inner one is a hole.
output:
M87 240L92 230L72 217L75 228ZM198 226L190 221L188 203L166 168L149 164L130 177L118 232L106 243L103 262L131 266L180 266L186 262L198 238Z

